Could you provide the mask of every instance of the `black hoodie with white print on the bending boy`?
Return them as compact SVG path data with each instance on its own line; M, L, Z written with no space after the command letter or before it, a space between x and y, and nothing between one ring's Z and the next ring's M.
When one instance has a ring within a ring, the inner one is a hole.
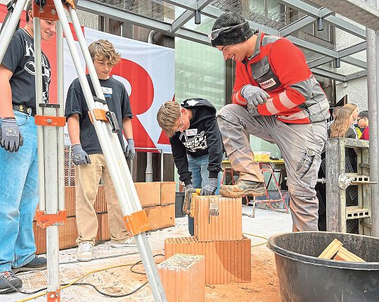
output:
M205 99L186 99L181 107L192 111L192 119L187 130L175 132L169 139L179 180L185 185L191 184L187 154L194 158L209 154L209 177L217 178L221 171L223 147L216 108Z

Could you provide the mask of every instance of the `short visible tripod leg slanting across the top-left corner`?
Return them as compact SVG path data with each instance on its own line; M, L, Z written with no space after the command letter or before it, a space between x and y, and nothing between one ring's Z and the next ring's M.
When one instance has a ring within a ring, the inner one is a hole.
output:
M0 34L0 62L3 61L6 49L8 49L9 42L13 37L15 32L15 27L18 25L18 20L20 20L21 13L25 7L27 0L18 0L15 4L15 9L10 18L6 21L6 25L3 27L3 30Z

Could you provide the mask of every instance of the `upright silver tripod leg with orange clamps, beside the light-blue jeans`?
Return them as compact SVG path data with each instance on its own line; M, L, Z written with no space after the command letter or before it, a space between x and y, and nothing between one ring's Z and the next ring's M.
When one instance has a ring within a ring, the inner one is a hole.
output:
M57 22L58 104L43 101L40 19L34 16L36 79L35 123L38 138L39 211L37 221L46 229L47 301L60 301L59 229L65 222L63 149L63 32ZM60 212L60 213L59 213ZM46 225L41 221L44 221Z

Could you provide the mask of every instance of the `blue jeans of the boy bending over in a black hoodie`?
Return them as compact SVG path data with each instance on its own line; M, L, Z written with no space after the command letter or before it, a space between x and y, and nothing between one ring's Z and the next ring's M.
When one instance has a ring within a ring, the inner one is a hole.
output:
M208 169L208 163L209 163L209 156L200 156L198 158L195 158L193 156L187 155L188 160L188 170L192 172L192 185L196 189L200 189L208 184L209 182L209 171ZM219 182L217 184L217 191L216 195L219 194L219 187L220 187L220 173L218 176ZM195 234L194 232L195 223L194 219L188 215L188 232L193 236Z

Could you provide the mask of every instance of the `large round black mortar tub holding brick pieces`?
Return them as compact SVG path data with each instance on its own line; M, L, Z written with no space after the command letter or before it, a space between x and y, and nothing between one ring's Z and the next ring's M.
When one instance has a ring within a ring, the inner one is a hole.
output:
M365 263L317 258L338 239ZM378 302L379 238L333 232L270 237L282 302Z

